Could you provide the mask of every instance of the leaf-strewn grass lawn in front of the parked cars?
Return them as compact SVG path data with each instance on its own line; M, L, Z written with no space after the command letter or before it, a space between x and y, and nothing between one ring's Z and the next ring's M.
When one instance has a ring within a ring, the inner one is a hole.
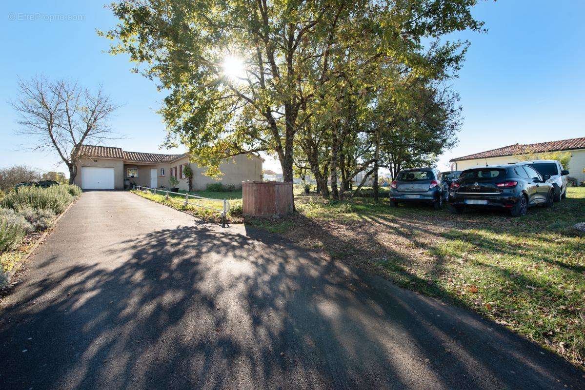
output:
M585 188L523 218L451 215L387 199L298 196L295 216L253 220L402 287L468 306L585 367Z

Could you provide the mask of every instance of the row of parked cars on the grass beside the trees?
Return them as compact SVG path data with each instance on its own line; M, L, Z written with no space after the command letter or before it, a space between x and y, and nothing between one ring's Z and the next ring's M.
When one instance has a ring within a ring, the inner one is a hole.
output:
M443 202L448 202L453 213L487 208L522 216L531 206L550 207L566 198L568 174L554 160L449 172L414 168L398 172L390 185L390 200L395 206L400 202L427 202L441 209Z

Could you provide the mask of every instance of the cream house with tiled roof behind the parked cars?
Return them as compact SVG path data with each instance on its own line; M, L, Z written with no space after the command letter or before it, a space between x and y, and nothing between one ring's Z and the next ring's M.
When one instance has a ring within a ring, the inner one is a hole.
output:
M577 181L585 181L585 173L583 173L583 168L585 167L585 137L533 144L513 144L470 154L469 156L452 158L450 161L455 163L455 170L461 171L485 165L514 164L520 161L514 157L518 156L518 154L551 151L570 152L572 155L571 161L569 167L565 167L565 169Z

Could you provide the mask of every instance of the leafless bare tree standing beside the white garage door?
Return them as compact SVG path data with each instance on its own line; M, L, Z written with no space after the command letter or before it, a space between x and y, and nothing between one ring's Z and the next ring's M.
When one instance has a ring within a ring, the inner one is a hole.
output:
M119 106L101 88L92 93L73 81L19 79L12 106L20 114L16 133L27 137L31 150L56 151L67 165L70 183L77 175L81 144L119 138L108 126Z

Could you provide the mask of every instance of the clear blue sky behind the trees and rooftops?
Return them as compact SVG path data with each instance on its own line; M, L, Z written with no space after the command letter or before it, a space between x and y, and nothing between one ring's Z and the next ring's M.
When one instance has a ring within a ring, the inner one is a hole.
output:
M164 94L153 82L130 73L124 56L110 56L108 40L95 29L116 23L102 1L4 1L0 5L0 167L27 164L57 167L54 154L22 150L26 140L13 135L17 76L44 74L71 78L95 88L101 84L118 110L111 125L126 138L112 141L130 151L159 151L165 129L159 115ZM512 143L585 136L585 2L481 1L474 15L487 33L462 32L472 42L453 88L461 95L465 122L459 146L439 161ZM32 15L32 16L26 16ZM49 20L51 15L72 15ZM77 15L81 15L78 17ZM15 20L12 20L15 19ZM28 19L28 20L26 20ZM176 153L171 150L169 153ZM166 152L161 152L166 153ZM280 171L268 159L266 169Z

